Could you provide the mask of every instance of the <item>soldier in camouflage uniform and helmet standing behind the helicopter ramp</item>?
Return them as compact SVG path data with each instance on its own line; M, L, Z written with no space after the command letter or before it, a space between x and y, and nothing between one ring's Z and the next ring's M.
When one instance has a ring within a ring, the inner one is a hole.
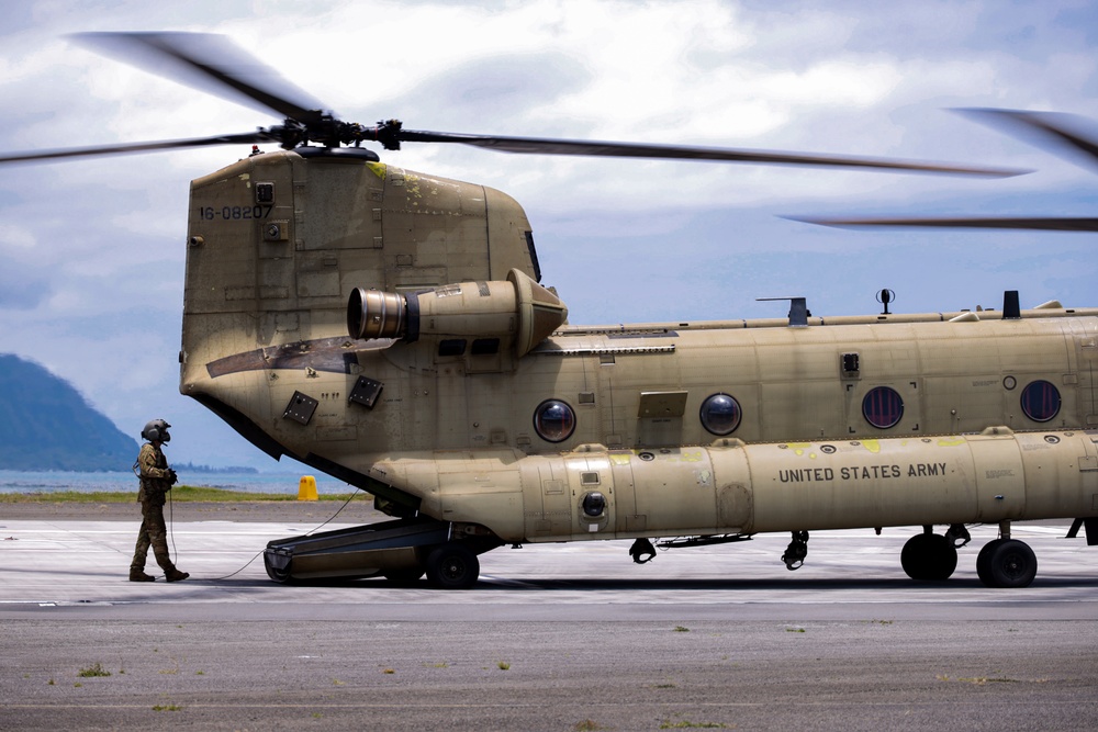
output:
M141 503L141 530L137 532L137 547L134 549L134 559L130 564L130 582L154 582L156 577L145 574L145 559L148 555L149 545L153 547L153 555L156 563L164 570L164 576L168 582L179 582L191 576L187 572L180 572L171 563L168 555L167 529L164 525L164 498L165 494L176 484L176 471L168 468L168 461L160 451L160 446L171 439L168 428L171 427L163 419L154 419L145 425L141 436L148 440L141 446L141 453L134 465L135 472L141 469L141 491L137 500Z

